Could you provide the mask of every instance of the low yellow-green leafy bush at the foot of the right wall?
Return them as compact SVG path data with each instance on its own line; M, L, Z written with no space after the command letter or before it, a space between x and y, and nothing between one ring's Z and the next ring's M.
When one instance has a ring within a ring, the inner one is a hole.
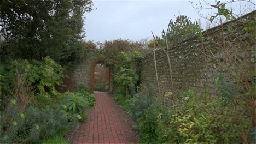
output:
M220 80L218 81L220 82ZM217 80L216 80L217 83ZM219 93L230 89L217 87ZM170 97L172 94L167 94ZM172 95L173 96L173 95ZM243 115L241 105L228 103L229 95L211 97L185 91L168 108L162 101L142 106L143 97L133 98L132 118L137 120L141 143L242 143L242 129L249 129L251 116ZM141 109L144 109L141 111ZM242 114L241 114L242 113ZM243 115L243 117L240 117ZM239 119L238 119L239 118ZM250 131L249 131L250 132ZM251 128L251 139L255 135Z

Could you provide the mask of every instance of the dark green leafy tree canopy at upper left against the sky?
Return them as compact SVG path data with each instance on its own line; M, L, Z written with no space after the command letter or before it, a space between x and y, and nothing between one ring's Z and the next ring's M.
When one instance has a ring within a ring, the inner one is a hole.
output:
M50 56L66 64L82 49L84 13L90 0L2 0L0 26L4 35L0 55L40 59Z

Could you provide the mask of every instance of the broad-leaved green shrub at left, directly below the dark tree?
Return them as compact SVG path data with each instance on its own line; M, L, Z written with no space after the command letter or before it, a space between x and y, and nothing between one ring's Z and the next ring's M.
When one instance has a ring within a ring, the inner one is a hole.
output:
M43 61L14 60L4 64L0 69L0 87L3 98L11 95L10 89L15 88L16 73L19 73L25 83L33 87L34 93L38 97L34 100L40 105L50 105L55 103L55 98L60 95L56 86L62 85L62 68L49 57L43 58ZM51 95L51 97L50 97ZM3 100L3 103L7 101Z

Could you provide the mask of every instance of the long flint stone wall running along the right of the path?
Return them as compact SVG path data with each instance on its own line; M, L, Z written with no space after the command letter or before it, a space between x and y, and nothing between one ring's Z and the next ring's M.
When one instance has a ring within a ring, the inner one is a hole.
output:
M161 49L155 52L160 93L157 89L154 53L142 57L141 86L146 86L147 82L151 83L154 86L154 94L160 99L164 98L166 92L186 91L188 89L214 95L214 77L219 73L226 72L221 66L236 65L236 62L231 61L234 59L223 59L225 54L228 53L227 55L237 59L237 61L243 61L248 57L255 60L255 40L253 40L255 30L248 33L243 29L246 25L241 21L245 19L255 22L255 11L239 20L225 23L223 25L224 33L221 26L217 26L203 32L203 38L191 37L181 40L177 44L172 44L169 49L169 56L174 90L171 89L170 71L165 52ZM226 44L225 50L223 49L224 43L221 43L223 36ZM237 70L235 66L233 69L230 68L229 73Z

